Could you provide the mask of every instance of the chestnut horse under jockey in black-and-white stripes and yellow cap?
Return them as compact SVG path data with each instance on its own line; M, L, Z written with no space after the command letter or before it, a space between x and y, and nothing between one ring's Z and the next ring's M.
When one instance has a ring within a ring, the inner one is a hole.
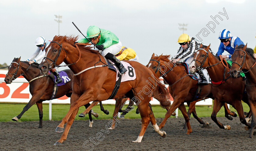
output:
M189 117L191 112L194 118L197 119L200 124L205 125L205 122L202 119L198 118L196 114L195 104L196 102L203 99L214 99L211 93L211 85L201 85L201 92L198 96L197 80L193 80L189 77L189 73L186 72L187 69L183 64L174 64L169 60L169 57L170 55L155 56L155 53L153 53L147 65L147 67L155 71L158 77L162 76L164 80L169 84L169 92L174 99L172 106L165 114L165 118L159 125L159 128L164 127L166 120L170 117L170 113L172 113L179 107L188 126L187 134L190 134L192 132L189 123ZM184 102L187 102L189 106L188 113L186 112L186 109L183 109ZM226 103L224 104L224 108L226 113L225 116L228 119L232 120L233 118L231 116L236 117L236 113L230 112ZM184 128L186 128L186 125L184 125L183 129Z

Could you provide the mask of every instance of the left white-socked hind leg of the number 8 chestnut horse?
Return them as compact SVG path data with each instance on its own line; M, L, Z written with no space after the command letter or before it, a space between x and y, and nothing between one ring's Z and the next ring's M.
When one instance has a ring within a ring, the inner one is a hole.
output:
M140 143L143 136L144 136L144 133L145 133L147 127L148 127L148 124L151 121L151 119L150 119L149 114L148 114L148 112L150 110L150 107L148 106L148 103L140 102L138 104L138 108L140 110L140 116L141 116L141 122L142 122L141 123L141 129L140 129L140 134L139 134L138 138L135 141L132 141L132 142ZM152 120L152 122L155 123L153 120ZM154 129L155 129L155 127L154 127ZM157 129L157 127L156 127L156 129Z

